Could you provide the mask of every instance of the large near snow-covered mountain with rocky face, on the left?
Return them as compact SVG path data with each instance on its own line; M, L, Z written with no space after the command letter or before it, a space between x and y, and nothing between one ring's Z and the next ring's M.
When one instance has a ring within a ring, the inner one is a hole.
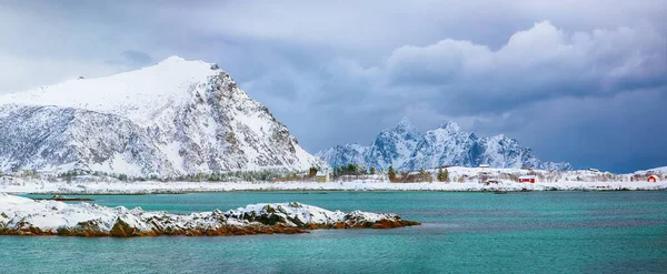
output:
M217 64L178 57L0 95L0 132L3 172L177 176L326 165Z

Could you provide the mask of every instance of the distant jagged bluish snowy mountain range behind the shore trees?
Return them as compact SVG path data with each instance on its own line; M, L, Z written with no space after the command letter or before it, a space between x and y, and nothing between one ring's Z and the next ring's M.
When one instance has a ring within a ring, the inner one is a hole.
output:
M520 146L517 140L502 134L479 138L462 131L455 122L419 132L407 119L401 120L395 129L380 132L370 146L337 145L316 155L331 166L357 163L378 169L394 166L398 170L419 170L489 164L492 168L571 170L569 163L541 162L530 149Z

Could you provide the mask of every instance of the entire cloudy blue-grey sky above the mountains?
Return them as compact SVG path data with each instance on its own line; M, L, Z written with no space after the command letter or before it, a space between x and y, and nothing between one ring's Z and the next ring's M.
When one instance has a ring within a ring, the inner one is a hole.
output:
M546 161L667 165L667 1L0 0L0 93L217 62L311 152L408 116Z

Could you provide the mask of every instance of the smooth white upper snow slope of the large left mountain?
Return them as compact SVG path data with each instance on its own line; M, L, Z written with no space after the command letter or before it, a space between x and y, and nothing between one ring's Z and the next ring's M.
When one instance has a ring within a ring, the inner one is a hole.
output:
M98 79L77 79L1 98L2 103L84 109L152 123L171 105L187 103L216 70L203 61L170 57L157 65Z

